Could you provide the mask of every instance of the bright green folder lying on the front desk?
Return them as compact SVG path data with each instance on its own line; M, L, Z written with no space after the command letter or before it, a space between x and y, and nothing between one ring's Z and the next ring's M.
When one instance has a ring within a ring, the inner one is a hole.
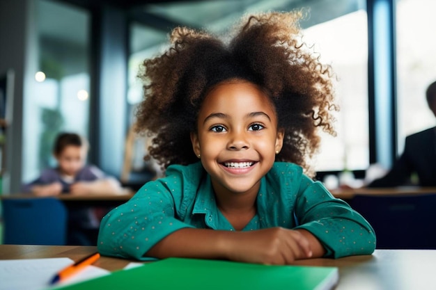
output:
M266 266L233 261L169 258L59 289L325 290L334 288L337 282L338 268L335 267Z

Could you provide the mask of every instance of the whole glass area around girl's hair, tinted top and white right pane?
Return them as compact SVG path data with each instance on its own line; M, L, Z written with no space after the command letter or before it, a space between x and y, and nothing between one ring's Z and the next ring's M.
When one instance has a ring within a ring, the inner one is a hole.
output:
M321 152L316 170L365 169L369 164L368 149L368 29L365 1L293 1L293 0L245 0L178 2L147 5L147 13L157 15L168 23L194 28L206 28L215 33L228 29L246 13L268 10L289 11L309 9L310 17L302 21L304 39L315 44L322 61L329 63L338 76L336 92L341 104L337 115L338 136L322 136ZM167 27L155 30L145 25L132 26L132 50L130 58L130 104L141 99L141 88L134 76L144 56L153 56L159 46L158 38L166 42ZM146 33L153 37L148 45ZM156 35L154 34L156 33ZM143 40L143 47L135 46Z

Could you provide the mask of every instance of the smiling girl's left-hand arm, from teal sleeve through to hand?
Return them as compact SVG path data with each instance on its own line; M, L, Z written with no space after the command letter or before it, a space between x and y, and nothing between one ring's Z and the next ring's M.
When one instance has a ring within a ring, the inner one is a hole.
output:
M235 232L194 228L175 212L174 206L180 200L166 194L163 184L172 182L150 182L104 216L98 237L102 255L142 260L191 257L292 264L296 259L321 257L324 253L318 240L304 229L272 227ZM185 204L181 202L178 207L184 208Z

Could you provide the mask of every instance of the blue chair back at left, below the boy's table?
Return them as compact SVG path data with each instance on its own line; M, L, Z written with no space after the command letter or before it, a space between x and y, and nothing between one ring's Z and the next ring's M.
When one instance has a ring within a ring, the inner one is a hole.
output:
M65 245L68 214L56 198L5 198L3 243Z

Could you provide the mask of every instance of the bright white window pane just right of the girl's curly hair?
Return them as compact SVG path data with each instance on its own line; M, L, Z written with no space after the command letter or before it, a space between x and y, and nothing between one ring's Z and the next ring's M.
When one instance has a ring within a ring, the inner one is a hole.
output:
M334 31L334 33L332 33ZM337 136L322 134L316 169L361 170L369 165L368 27L360 9L305 29L306 41L320 52L323 63L337 74Z

